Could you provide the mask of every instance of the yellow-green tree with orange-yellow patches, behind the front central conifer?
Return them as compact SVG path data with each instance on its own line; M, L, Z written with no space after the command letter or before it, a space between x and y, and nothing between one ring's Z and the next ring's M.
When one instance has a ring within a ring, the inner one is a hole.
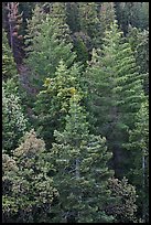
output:
M37 95L35 114L37 115L37 128L44 138L46 147L53 141L54 129L64 129L65 115L68 111L69 98L75 93L80 93L80 68L74 64L67 68L63 61L60 62L55 77L47 77L44 82L44 90Z

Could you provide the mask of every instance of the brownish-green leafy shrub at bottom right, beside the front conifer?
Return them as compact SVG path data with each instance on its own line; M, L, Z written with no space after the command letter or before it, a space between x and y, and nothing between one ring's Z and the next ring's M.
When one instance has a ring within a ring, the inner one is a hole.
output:
M111 196L116 199L107 207L107 213L115 216L115 223L136 223L137 193L134 186L123 178L121 181L115 178L109 179Z

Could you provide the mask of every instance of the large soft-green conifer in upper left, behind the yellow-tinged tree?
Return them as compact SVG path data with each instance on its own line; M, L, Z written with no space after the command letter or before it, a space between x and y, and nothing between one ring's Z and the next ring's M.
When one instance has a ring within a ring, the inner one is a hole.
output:
M58 35L62 28L58 25L57 19L46 14L45 19L39 20L40 13L36 11L30 22L29 29L34 26L33 36L29 40L31 43L26 47L28 57L25 63L31 69L32 78L36 81L35 87L42 89L43 82L46 77L54 77L56 66L61 58L66 62L69 67L75 58L75 53L72 52L72 43L66 43L65 35L62 40ZM39 22L37 22L39 21Z

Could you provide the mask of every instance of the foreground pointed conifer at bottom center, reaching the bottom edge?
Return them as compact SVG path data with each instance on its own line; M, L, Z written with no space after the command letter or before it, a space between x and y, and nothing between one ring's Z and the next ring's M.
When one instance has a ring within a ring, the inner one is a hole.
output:
M106 139L89 133L79 96L73 95L64 131L54 132L56 142L50 152L54 165L54 185L60 193L60 222L111 222L105 205L109 201ZM58 221L57 221L58 222Z

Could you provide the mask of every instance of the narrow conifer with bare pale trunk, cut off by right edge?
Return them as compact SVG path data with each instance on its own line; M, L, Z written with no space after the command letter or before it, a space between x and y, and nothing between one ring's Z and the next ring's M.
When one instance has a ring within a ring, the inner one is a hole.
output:
M139 215L143 222L149 221L149 104L142 103L137 114L136 126L129 131L129 143L126 148L131 152L131 170L129 179L136 185ZM142 182L140 182L140 179Z

